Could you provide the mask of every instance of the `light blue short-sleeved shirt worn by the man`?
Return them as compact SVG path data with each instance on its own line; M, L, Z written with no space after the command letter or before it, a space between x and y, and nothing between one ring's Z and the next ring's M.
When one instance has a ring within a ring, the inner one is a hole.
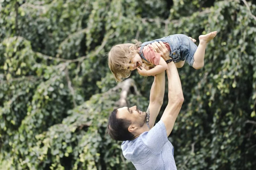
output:
M177 170L174 148L167 138L163 121L147 132L121 145L123 155L137 170Z

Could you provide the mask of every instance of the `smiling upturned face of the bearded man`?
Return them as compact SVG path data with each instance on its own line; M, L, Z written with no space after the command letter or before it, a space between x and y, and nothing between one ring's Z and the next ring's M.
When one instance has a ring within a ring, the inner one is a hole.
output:
M137 106L122 107L117 109L116 117L130 120L132 126L140 128L146 123L147 113L140 111Z

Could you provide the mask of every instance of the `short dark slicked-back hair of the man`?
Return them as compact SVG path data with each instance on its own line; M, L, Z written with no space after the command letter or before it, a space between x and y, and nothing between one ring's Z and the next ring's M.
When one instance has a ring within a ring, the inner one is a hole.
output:
M108 117L108 135L118 141L132 140L134 135L128 131L131 121L116 118L117 109Z

